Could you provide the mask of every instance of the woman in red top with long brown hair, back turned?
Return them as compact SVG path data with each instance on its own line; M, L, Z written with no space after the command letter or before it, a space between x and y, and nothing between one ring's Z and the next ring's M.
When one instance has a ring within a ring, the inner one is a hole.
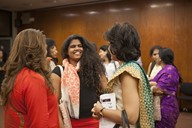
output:
M16 36L1 91L5 128L59 128L46 54L41 31L26 29Z

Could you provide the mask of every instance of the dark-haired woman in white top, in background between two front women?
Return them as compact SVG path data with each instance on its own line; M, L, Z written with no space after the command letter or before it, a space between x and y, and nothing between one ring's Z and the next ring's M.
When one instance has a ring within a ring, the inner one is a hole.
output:
M119 67L119 63L116 61L111 60L111 55L108 51L108 45L102 45L99 48L99 56L103 61L103 65L106 71L106 77L108 80L114 74L115 70Z

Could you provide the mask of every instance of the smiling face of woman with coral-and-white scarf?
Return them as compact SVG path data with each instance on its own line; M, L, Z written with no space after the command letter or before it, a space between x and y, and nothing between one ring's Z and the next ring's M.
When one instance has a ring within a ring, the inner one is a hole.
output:
M77 63L83 54L83 45L78 39L71 41L68 47L69 62Z

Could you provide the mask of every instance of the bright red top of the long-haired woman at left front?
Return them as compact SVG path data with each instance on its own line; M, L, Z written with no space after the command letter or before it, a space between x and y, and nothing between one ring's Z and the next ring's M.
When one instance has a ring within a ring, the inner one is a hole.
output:
M44 78L28 68L18 73L4 110L6 128L58 127L56 96Z

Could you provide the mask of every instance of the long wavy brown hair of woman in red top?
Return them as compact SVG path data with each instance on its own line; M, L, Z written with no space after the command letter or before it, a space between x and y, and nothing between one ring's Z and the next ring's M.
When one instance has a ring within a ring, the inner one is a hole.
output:
M5 63L5 79L1 87L2 104L8 101L8 96L14 88L17 74L27 67L45 78L47 86L53 91L50 73L46 61L45 35L36 29L25 29L15 38L9 58Z

